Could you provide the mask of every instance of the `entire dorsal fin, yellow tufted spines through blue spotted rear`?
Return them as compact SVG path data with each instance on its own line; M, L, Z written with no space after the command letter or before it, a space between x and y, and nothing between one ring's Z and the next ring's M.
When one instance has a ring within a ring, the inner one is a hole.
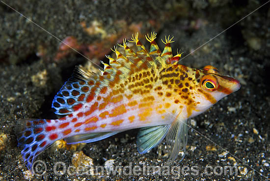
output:
M165 48L161 53L159 46L155 42L157 33L152 32L151 35L145 36L147 41L151 43L150 53L146 50L144 45L138 40L138 33L132 35L130 42L136 43L137 52L134 52L127 46L126 40L123 40L125 56L122 55L117 47L112 51L116 54L116 60L110 56L109 64L104 64L104 70L101 70L102 75L94 72L89 72L83 67L77 66L74 70L73 76L64 84L60 91L56 94L53 100L52 107L56 110L57 115L71 114L82 107L86 102L90 102L95 98L95 95L105 93L109 88L113 88L116 84L124 83L128 76L134 72L148 69L167 67L168 64L177 63L181 58L182 53L172 56L170 43L173 37L165 36ZM160 67L161 66L161 67Z

